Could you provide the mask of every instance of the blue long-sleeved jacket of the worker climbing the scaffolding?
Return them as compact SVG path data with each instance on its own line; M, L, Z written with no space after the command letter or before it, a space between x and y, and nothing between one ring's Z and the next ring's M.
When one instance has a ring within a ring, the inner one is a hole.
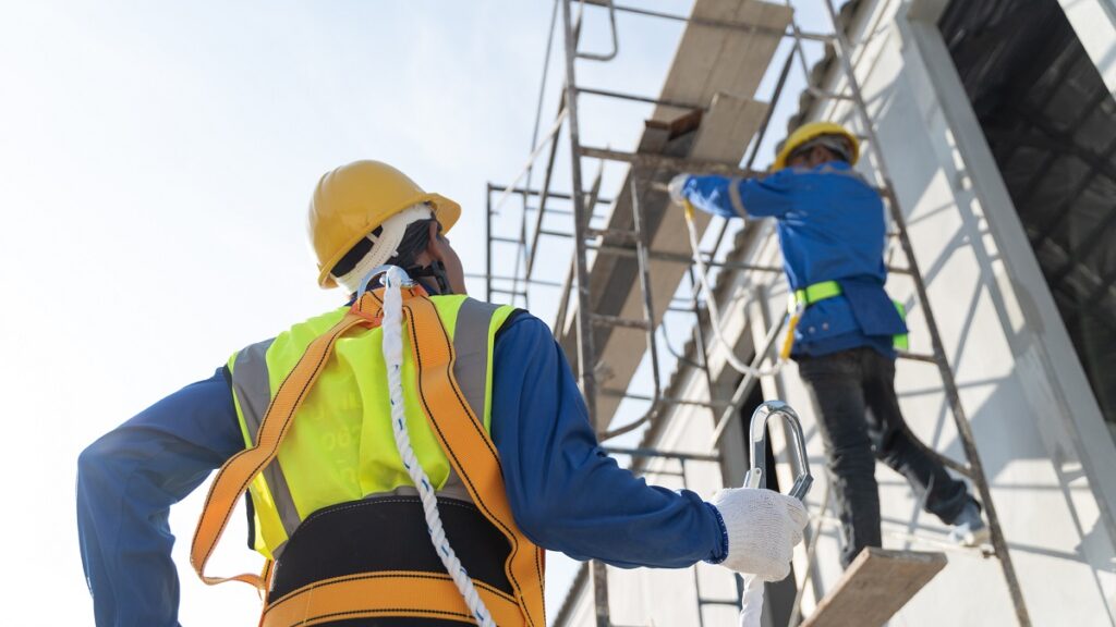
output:
M852 166L838 161L810 170L788 167L762 179L691 176L683 195L723 218L773 218L791 289L840 283L841 296L802 312L795 356L859 346L895 356L893 336L906 332L906 324L884 291L884 205Z

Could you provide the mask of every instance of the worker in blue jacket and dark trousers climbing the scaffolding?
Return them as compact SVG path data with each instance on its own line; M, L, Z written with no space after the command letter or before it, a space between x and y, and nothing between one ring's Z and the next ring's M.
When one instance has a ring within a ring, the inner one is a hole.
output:
M961 481L906 427L895 395L896 348L906 325L884 291L885 218L879 195L857 174L859 145L845 127L806 124L759 179L676 176L672 199L724 218L773 218L795 305L790 357L818 419L847 567L881 546L875 457L902 473L954 539L987 539L980 507Z

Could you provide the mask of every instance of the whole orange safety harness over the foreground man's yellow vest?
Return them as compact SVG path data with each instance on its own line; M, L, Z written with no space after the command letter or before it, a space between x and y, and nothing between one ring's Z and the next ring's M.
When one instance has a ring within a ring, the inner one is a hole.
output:
M473 580L497 624L546 627L543 551L514 522L496 445L473 415L453 376L453 343L433 302L420 286L402 289L405 331L417 365L419 398L432 431L473 503L508 540L504 572L513 595ZM294 627L374 617L427 617L473 623L449 575L381 571L316 581L281 598L267 598L271 562L261 575L205 575L205 565L228 525L237 501L279 453L299 406L329 363L335 343L355 327L375 328L383 319L383 289L365 292L339 322L315 339L283 379L260 423L256 445L233 455L217 474L194 532L190 562L208 585L243 581L264 597L261 627Z

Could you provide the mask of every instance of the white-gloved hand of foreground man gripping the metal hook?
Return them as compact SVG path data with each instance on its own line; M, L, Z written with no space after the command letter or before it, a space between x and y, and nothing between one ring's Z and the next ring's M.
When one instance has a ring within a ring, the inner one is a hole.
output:
M779 581L790 573L790 558L802 541L809 517L793 496L771 490L721 490L710 501L729 533L729 556L721 566Z

